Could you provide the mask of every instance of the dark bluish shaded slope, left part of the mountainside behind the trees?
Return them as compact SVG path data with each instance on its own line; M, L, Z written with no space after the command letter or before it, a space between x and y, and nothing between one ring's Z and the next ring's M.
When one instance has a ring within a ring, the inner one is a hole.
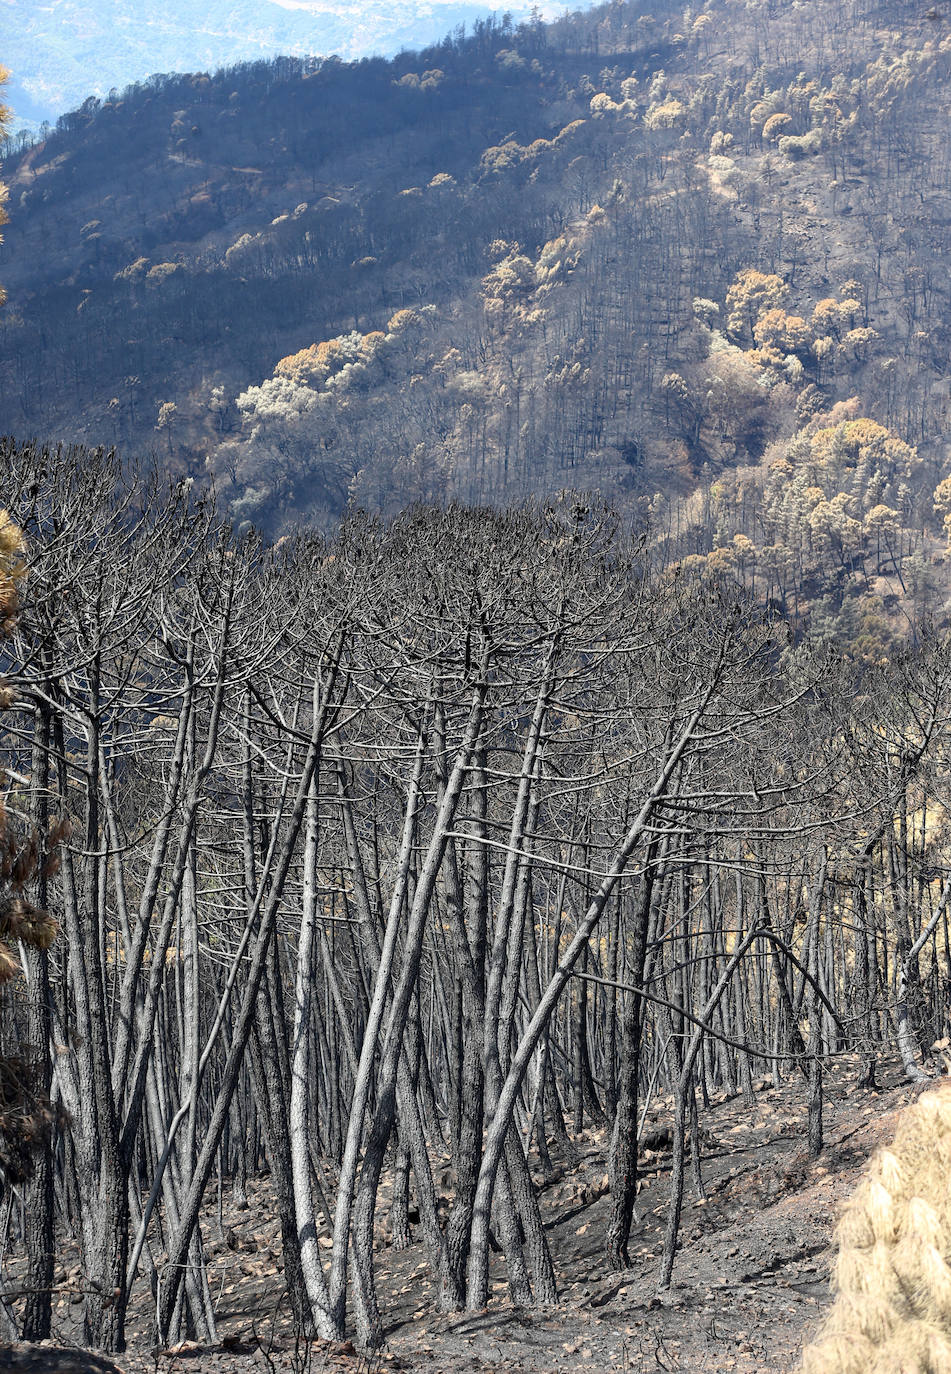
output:
M525 56L499 60L513 30L485 23L419 58L169 78L67 117L4 168L3 425L140 445L175 401L201 448L186 431L202 375L234 396L287 352L458 298L503 235L544 242L570 213L558 179L577 131L528 184L482 158L544 151L587 113L588 54L543 65L546 40L529 29Z

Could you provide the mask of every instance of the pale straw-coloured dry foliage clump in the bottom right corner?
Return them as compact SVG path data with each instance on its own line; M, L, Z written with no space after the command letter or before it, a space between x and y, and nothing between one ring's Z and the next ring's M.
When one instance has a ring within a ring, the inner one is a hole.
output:
M904 1112L837 1237L836 1303L803 1374L951 1374L951 1084Z

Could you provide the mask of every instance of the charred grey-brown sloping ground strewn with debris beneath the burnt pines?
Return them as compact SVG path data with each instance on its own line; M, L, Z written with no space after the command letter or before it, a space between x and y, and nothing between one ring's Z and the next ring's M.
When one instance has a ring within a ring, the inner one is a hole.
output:
M642 1158L646 1172L631 1245L634 1267L612 1274L603 1254L607 1139L603 1129L595 1129L577 1140L577 1162L562 1164L541 1193L561 1282L557 1308L513 1307L497 1263L486 1311L441 1316L422 1245L397 1252L381 1234L381 1307L390 1323L386 1349L367 1358L349 1342L297 1345L282 1286L278 1223L268 1182L261 1179L249 1190L249 1210L225 1208L221 1231L214 1209L208 1217L220 1344L186 1342L157 1351L143 1285L132 1304L129 1351L117 1366L125 1374L793 1370L829 1303L838 1209L870 1153L893 1135L897 1113L915 1092L897 1065L882 1068L878 1092L856 1090L855 1070L851 1059L842 1059L829 1074L826 1149L816 1162L803 1145L801 1080L778 1090L763 1085L752 1112L739 1098L702 1109L706 1200L695 1195L691 1180L682 1249L667 1290L658 1278L669 1154L661 1145ZM656 1121L661 1132L664 1123L661 1103ZM65 1253L55 1345L0 1349L0 1370L92 1374L113 1369L66 1348L77 1338L81 1311L77 1293L70 1292L76 1274L70 1264L76 1257Z

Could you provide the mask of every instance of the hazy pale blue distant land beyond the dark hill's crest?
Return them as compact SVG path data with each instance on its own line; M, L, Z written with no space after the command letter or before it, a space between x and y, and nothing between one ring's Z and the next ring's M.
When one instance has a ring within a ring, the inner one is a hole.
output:
M206 71L269 56L361 58L419 48L530 0L0 0L0 62L14 131L55 122L88 96L153 73ZM548 4L546 12L563 10Z

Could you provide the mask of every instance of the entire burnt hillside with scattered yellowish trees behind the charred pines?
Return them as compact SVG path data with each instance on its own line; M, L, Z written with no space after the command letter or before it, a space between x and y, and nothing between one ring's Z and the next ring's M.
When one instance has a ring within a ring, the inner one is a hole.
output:
M0 426L271 532L596 488L874 657L947 595L950 58L616 3L87 102L3 168Z

